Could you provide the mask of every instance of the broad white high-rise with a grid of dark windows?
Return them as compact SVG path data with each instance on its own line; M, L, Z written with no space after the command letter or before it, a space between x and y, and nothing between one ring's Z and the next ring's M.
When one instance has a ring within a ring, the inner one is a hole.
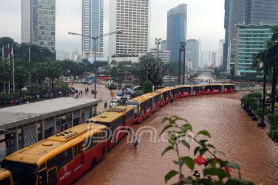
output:
M109 0L109 57L148 52L151 0Z

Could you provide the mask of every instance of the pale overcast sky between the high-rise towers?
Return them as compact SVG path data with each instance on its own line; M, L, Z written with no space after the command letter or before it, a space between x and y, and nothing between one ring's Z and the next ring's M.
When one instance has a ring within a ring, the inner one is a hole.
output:
M1 0L0 37L21 42L20 1ZM81 48L81 38L67 32L81 33L82 0L56 0L56 50ZM200 39L202 50L218 50L224 39L224 0L151 0L151 47L156 37L166 39L167 11L187 4L187 38ZM104 33L108 33L109 0L104 0ZM108 55L108 37L104 37L104 55Z

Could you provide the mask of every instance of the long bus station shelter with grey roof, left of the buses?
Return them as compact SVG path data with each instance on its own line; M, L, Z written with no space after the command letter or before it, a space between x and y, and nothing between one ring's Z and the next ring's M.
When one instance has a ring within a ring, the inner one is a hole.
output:
M85 123L101 101L62 97L0 109L0 158Z

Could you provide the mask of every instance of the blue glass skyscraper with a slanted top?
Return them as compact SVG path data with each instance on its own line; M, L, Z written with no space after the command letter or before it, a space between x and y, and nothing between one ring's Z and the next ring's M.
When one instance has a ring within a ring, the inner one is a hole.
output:
M187 4L179 4L167 12L167 50L171 61L179 61L180 41L186 41Z

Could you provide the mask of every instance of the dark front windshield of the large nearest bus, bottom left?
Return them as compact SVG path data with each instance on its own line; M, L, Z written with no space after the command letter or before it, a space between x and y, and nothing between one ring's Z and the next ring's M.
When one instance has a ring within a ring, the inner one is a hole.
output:
M15 185L35 184L37 177L34 173L38 168L37 165L4 160L1 167L12 173Z

